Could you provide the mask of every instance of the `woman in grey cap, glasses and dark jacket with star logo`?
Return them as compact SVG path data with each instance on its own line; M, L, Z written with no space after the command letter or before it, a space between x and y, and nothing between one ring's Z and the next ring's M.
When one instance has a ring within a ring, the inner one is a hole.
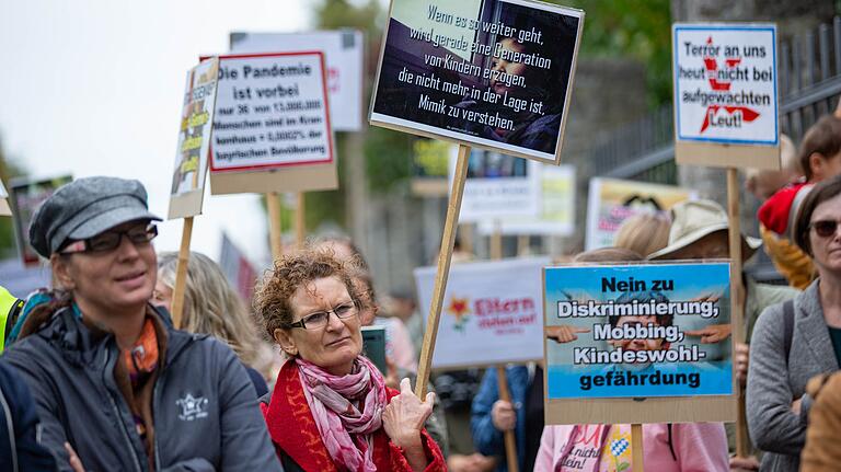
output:
M158 234L137 181L69 183L37 209L60 290L3 356L32 390L61 471L280 471L242 364L149 304Z

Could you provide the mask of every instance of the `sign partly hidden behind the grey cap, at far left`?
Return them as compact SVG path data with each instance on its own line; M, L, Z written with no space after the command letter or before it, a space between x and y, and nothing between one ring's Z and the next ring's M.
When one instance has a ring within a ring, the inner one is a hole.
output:
M30 245L30 223L32 223L32 217L35 216L35 210L58 187L70 181L72 177L65 175L43 180L13 179L9 183L14 235L24 265L38 263L38 253Z

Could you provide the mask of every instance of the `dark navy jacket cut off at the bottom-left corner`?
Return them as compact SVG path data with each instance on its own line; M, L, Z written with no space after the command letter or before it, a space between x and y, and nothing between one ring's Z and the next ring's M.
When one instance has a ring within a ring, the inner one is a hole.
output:
M38 416L30 389L0 359L0 471L55 470L56 460L38 444Z

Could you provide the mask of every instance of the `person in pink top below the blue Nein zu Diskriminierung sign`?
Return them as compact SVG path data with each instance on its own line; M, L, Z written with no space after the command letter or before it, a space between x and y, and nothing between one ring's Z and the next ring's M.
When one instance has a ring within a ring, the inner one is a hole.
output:
M726 472L721 423L643 425L643 463L657 472ZM631 425L554 425L543 429L534 472L641 472L631 465Z

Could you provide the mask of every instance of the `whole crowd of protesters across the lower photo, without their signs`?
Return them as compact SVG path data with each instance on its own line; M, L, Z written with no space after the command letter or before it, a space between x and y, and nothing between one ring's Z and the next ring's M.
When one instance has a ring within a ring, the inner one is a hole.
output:
M799 151L784 149L784 163L779 174L748 176L767 198L762 240L741 235L745 262L764 241L790 283L742 274L747 336L734 364L753 452L734 457L730 425L649 424L648 470L837 468L841 119L818 120ZM155 253L158 220L142 185L115 177L71 182L34 215L28 239L49 262L54 287L25 300L0 291L0 470L505 471L507 433L519 470L631 470L630 449L620 457L609 448L631 437L631 425L544 425L539 362L506 368L510 400L500 399L497 369L481 380L440 376L416 396L424 327L416 303L396 293L381 304L347 239L276 258L251 309L212 260L192 253L174 326L177 254ZM572 262L728 258L728 235L718 204L688 200L626 220L614 247ZM611 324L671 323L624 318ZM385 368L362 355L368 325L385 326ZM715 348L730 331L711 324L686 334ZM556 343L579 334L545 331ZM657 343L623 347L646 344ZM469 413L453 413L465 401ZM573 457L586 459L573 468Z

